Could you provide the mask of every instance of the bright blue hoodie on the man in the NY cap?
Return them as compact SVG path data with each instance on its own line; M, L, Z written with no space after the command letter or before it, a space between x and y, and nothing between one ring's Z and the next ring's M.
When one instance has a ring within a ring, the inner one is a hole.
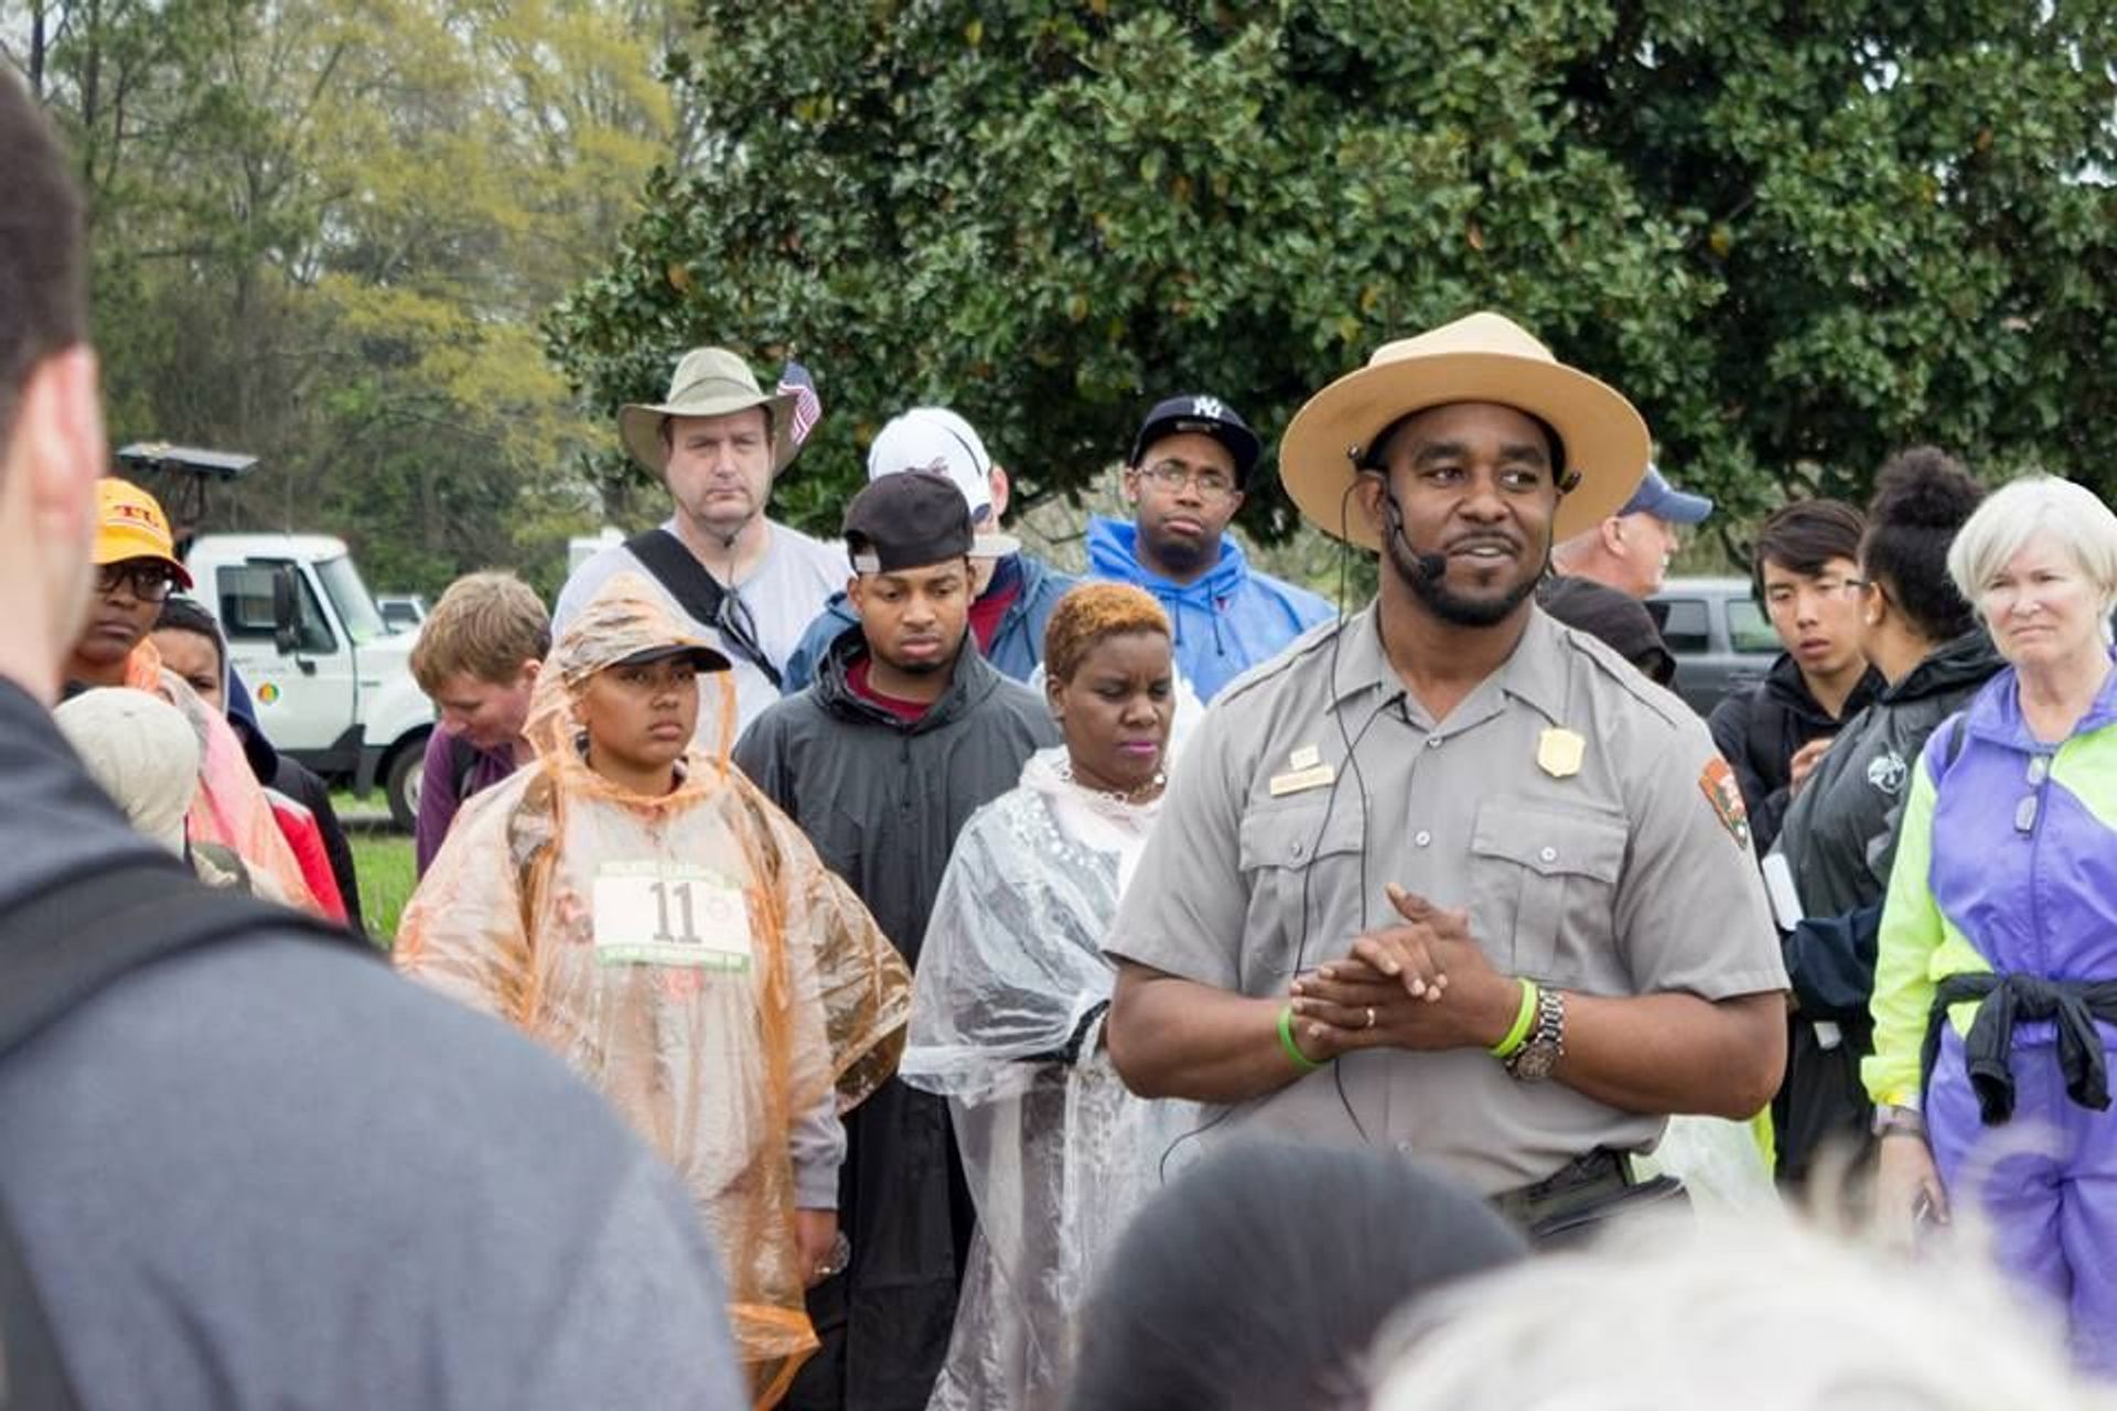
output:
M1249 567L1243 546L1222 535L1219 558L1198 580L1173 584L1139 563L1139 527L1088 520L1088 575L1152 592L1177 630L1177 671L1211 700L1219 688L1338 616L1327 599Z

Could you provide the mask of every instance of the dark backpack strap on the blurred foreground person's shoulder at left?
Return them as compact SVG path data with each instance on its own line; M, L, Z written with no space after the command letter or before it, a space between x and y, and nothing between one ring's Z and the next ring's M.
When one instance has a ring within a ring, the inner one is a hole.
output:
M258 931L301 931L379 956L341 927L214 891L174 859L47 886L0 916L0 1062L131 971ZM78 1405L21 1242L0 1208L0 1407Z

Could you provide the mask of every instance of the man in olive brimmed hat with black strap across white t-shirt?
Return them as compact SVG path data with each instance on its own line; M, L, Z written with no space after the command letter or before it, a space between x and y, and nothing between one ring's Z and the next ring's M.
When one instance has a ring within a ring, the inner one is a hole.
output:
M639 573L671 611L735 662L737 728L779 700L788 656L845 586L845 554L766 518L773 480L798 451L796 398L768 393L724 347L677 362L663 402L618 410L618 440L661 476L675 514L580 565L559 590L553 635L618 573Z

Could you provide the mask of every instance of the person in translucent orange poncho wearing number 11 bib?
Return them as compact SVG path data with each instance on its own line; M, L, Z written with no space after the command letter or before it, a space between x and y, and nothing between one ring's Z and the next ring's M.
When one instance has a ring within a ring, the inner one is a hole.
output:
M726 658L612 580L538 679L536 764L466 806L394 954L559 1053L675 1166L768 1407L817 1345L802 1293L845 1257L838 1113L891 1073L910 975L728 766L732 723Z

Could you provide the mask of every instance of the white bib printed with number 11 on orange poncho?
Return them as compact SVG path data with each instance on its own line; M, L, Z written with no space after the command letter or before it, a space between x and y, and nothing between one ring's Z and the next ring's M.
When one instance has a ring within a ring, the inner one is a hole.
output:
M707 867L605 863L595 872L599 965L749 971L749 903Z

